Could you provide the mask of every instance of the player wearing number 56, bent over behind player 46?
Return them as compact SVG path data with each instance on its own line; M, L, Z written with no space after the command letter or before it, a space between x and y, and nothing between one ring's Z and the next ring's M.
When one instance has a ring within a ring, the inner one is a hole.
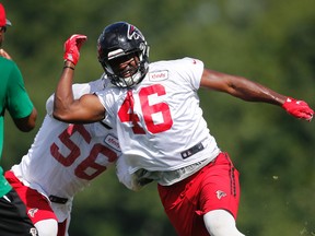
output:
M103 90L105 81L75 84L74 96ZM27 154L5 173L40 236L67 235L75 193L115 165L120 155L114 129L103 121L73 125L56 120L52 104L54 95Z

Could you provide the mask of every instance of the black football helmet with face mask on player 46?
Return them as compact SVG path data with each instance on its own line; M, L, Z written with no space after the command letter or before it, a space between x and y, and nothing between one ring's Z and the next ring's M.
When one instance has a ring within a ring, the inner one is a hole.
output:
M149 46L141 32L126 22L104 28L97 42L98 61L107 78L118 87L131 87L145 76L149 68ZM126 70L120 63L130 62Z

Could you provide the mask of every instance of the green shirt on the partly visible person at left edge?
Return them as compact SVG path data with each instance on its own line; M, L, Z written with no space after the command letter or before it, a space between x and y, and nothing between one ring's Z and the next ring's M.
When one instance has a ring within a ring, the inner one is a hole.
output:
M24 118L31 115L33 104L27 95L24 81L14 61L0 57L0 160L3 149L3 121L4 111L10 116ZM8 193L11 186L3 176L3 169L0 166L0 197Z

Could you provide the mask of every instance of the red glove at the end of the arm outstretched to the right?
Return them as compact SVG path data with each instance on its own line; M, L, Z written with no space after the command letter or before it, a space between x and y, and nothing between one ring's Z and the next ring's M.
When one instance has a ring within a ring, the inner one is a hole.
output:
M311 109L304 101L296 101L292 97L288 97L282 107L290 115L300 119L306 119L308 121L312 120L314 115L314 110Z

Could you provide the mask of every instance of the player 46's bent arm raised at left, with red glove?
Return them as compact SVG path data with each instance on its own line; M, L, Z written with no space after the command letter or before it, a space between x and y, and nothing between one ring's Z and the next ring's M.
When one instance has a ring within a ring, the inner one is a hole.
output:
M86 123L103 120L105 117L105 108L96 95L86 94L79 99L73 97L74 68L80 57L80 47L85 40L84 35L72 35L65 43L65 67L55 92L52 113L60 121Z

